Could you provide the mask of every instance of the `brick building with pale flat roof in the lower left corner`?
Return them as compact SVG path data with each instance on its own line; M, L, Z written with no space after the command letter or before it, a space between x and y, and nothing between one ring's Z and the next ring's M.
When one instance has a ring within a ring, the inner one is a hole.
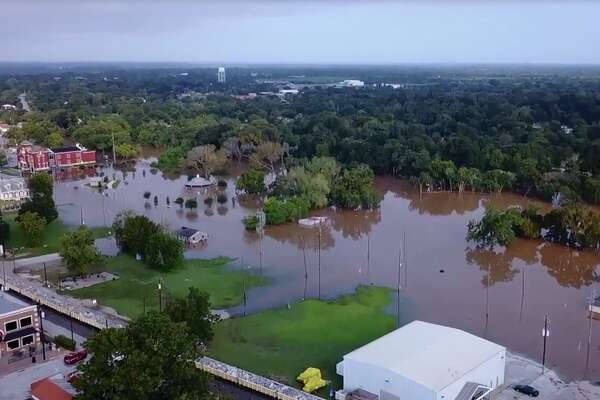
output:
M28 306L0 292L0 358L40 343L36 306Z

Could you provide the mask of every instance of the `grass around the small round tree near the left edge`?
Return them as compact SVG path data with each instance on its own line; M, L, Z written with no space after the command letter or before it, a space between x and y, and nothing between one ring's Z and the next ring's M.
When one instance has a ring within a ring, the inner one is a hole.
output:
M60 242L63 235L69 231L77 229L77 226L65 225L58 219L54 220L46 225L46 229L42 236L42 245L29 248L27 247L25 233L15 218L16 214L4 216L4 220L10 225L10 240L8 241L8 248L19 249L17 251L17 257L19 254L33 257L43 254L57 253L60 250ZM90 229L94 232L94 236L96 238L109 236L110 228L108 227L92 227Z

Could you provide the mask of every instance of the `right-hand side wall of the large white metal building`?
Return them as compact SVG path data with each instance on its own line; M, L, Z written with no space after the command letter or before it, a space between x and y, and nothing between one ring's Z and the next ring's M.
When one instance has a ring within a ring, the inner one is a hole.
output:
M459 380L440 390L437 400L454 400L467 382L475 382L496 388L504 384L504 369L506 367L506 351L502 351L480 364ZM402 399L404 400L404 399Z

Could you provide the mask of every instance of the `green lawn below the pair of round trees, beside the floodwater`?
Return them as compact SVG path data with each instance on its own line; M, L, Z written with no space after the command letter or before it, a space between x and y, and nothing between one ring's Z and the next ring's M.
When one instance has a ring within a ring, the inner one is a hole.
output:
M264 277L227 269L230 262L225 257L185 260L181 268L163 273L131 256L120 255L109 258L102 268L118 274L119 279L65 293L96 299L122 315L134 317L143 312L144 306L146 310L158 307L158 282L162 281L163 301L166 296L182 296L194 286L210 294L213 308L227 308L243 301L244 284L250 288L267 282Z

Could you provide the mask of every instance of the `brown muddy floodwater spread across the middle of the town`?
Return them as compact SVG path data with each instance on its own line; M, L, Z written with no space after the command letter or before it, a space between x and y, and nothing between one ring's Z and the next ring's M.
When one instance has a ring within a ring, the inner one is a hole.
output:
M163 177L161 172L151 172L149 165L149 160L140 161L135 171L125 172L124 177L122 171L117 171L116 178L122 182L104 195L84 186L85 179L71 177L57 183L55 197L62 220L78 224L83 214L88 225L110 225L119 211L133 209L171 229L191 226L206 231L210 235L208 244L189 250L187 257L228 256L237 259L231 268L240 268L243 260L244 269L271 278L270 286L248 293L248 312L318 297L315 230L296 224L267 227L260 268L258 235L245 231L240 222L256 210L256 203L231 201L239 171L233 171L227 179L227 203L215 201L207 208L202 201L207 196L205 191L186 190L186 177ZM110 169L99 171L113 176ZM520 196L419 196L406 183L385 177L377 178L376 186L384 195L376 211L319 213L330 217L321 235L322 298L335 298L361 284L395 289L398 252L406 232L407 265L400 273L402 321L422 319L465 329L540 360L547 313L551 333L547 365L567 379L600 378L600 321L592 322L593 339L586 368L586 303L592 289L600 289L600 258L596 254L525 240L516 241L508 249L485 251L465 241L467 222L479 218L486 203L527 204L529 200ZM145 191L152 193L149 200L143 198ZM159 197L156 207L155 195ZM167 196L170 208L166 206ZM173 201L178 196L198 198L198 210L175 205ZM390 312L396 313L396 309L394 301Z

